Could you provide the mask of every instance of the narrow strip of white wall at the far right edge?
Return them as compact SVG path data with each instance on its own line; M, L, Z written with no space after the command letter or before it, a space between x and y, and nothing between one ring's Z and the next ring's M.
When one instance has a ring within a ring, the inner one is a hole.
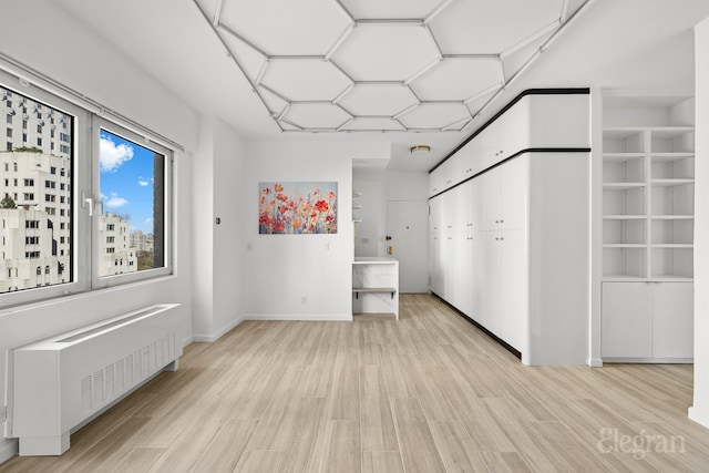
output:
M695 402L689 418L709 428L709 19L695 28Z

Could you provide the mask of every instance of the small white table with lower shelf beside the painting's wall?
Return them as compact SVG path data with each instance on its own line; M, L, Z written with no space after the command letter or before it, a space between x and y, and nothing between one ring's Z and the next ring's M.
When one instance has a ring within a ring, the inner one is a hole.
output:
M352 313L393 315L399 320L399 261L356 257L352 263Z

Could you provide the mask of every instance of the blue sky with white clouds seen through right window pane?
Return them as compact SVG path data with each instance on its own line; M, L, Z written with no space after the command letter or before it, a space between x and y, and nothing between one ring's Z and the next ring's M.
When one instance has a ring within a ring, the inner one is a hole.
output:
M153 151L101 131L103 212L129 215L131 232L153 233Z

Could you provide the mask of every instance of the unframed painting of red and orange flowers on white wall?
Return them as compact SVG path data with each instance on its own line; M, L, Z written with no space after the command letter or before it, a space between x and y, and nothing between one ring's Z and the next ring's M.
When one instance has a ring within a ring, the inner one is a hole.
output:
M259 183L259 234L336 234L337 183Z

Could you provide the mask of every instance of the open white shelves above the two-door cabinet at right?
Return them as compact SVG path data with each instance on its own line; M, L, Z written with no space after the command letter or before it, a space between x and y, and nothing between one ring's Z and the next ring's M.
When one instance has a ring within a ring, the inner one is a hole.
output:
M691 280L695 128L675 113L684 100L634 99L609 97L605 109L613 124L603 130L603 278ZM648 104L659 112L627 113Z

